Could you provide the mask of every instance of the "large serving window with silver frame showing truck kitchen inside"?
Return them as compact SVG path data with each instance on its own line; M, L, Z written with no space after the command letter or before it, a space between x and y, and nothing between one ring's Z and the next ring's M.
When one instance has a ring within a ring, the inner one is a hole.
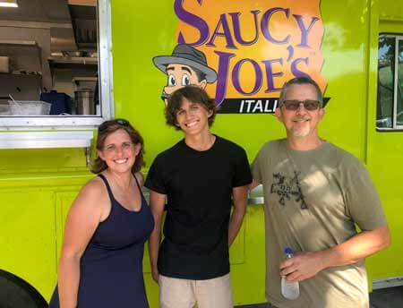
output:
M113 116L109 0L0 8L0 130L92 128Z

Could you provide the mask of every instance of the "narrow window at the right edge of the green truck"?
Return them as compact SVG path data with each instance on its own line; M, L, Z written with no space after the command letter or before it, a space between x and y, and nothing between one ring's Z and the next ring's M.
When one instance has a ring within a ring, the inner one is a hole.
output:
M379 38L376 127L403 129L403 36Z

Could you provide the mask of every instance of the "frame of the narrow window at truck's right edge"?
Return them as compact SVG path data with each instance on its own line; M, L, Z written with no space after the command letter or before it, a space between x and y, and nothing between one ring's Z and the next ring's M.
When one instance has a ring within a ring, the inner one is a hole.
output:
M379 40L380 39L395 39L395 48L394 48L394 72L393 72L393 101L391 104L391 125L390 127L382 127L382 126L378 126L380 119L377 118L376 116L376 130L377 131L403 131L403 124L398 124L397 120L398 120L398 82L399 82L399 44L403 46L403 34L393 34L393 33L380 33L379 34ZM378 40L378 41L379 41ZM378 50L379 50L379 46L378 46ZM378 90L380 87L380 81L379 81L379 73L380 73L380 65L379 65L379 61L380 61L380 55L378 53L378 69L377 69L377 73L378 73L378 81L377 81L377 86L378 86ZM402 63L403 64L403 63ZM378 91L378 95L377 95L377 104L376 104L376 109L377 112L380 108L381 102L380 102L380 96L379 96L379 91ZM403 109L400 111L403 112Z

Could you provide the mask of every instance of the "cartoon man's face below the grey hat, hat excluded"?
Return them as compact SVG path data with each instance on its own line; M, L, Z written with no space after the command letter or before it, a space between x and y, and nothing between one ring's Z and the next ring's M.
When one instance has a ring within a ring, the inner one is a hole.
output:
M195 85L201 89L206 88L207 81L199 81L193 68L184 64L168 64L167 65L167 86L162 91L162 98L167 106L167 97L175 90L188 85Z

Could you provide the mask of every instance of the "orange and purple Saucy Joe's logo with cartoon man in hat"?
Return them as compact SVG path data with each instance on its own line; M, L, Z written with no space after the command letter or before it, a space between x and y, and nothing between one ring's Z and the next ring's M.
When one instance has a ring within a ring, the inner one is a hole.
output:
M321 89L320 0L176 0L178 45L153 61L167 73L162 97L186 84L205 88L220 113L272 113L287 80Z

